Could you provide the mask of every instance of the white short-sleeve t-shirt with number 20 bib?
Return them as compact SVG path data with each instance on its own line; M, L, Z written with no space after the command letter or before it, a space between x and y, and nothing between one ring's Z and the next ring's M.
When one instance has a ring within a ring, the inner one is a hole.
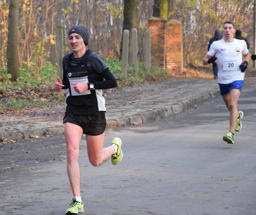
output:
M218 59L218 83L229 84L236 80L244 80L244 72L239 65L242 63L242 54L247 54L248 49L244 40L226 43L224 39L214 41L207 54Z

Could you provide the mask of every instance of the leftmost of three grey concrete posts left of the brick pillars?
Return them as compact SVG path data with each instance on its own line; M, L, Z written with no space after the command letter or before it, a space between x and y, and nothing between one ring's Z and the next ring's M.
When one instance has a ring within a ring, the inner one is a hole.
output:
M121 62L121 77L127 77L128 67L128 52L129 52L129 30L123 31L123 50L122 50L122 62Z

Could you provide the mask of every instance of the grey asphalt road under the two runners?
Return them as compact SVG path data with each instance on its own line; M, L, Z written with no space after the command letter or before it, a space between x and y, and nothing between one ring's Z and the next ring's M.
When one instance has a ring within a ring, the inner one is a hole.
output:
M239 98L244 117L235 144L222 140L229 113L221 97L157 122L107 130L106 145L114 136L123 141L117 166L110 161L91 166L83 138L82 214L256 214L256 89L251 86L245 84ZM65 214L72 192L63 135L3 147L9 147L1 156L9 168L0 173L0 213Z

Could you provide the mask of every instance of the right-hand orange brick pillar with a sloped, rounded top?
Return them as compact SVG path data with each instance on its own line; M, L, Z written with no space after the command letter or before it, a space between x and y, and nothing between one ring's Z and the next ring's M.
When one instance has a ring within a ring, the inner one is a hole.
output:
M178 20L166 23L166 70L169 74L182 74L183 27Z

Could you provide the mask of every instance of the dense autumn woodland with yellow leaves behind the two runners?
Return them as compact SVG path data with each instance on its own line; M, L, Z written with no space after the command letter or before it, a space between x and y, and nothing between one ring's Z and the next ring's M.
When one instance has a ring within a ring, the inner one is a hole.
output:
M131 1L131 0L130 0ZM42 67L56 62L56 26L64 27L64 40L72 26L83 25L90 34L89 48L106 56L120 56L124 24L124 0L20 0L18 62L21 67ZM137 0L138 58L144 59L144 32L153 16L154 0ZM253 0L168 0L169 19L184 26L184 65L201 65L209 38L226 20L252 45ZM10 0L0 0L0 69L7 67L8 14ZM160 7L160 5L159 5ZM161 8L160 8L161 9ZM69 52L67 44L65 53Z

